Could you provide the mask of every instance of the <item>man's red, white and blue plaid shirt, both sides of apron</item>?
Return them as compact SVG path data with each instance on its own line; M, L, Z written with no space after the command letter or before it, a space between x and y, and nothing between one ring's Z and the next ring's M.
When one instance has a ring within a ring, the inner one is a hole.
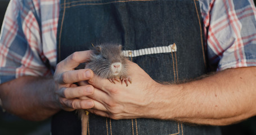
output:
M210 65L256 66L253 0L199 0ZM0 37L0 83L24 75L51 76L56 66L59 0L13 0Z

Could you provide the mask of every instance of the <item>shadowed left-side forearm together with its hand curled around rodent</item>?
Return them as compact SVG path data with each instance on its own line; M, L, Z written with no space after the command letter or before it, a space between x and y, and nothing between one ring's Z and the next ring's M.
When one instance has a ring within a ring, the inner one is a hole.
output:
M49 118L61 109L72 111L93 107L92 100L78 99L92 95L93 87L73 84L93 77L92 70L74 70L88 59L90 53L75 52L61 61L54 78L24 76L1 84L3 109L20 118L38 121Z

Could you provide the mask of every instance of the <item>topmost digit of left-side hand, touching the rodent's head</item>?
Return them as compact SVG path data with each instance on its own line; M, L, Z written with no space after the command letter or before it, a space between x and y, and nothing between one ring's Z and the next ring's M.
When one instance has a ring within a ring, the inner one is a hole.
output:
M66 57L65 60L61 61L60 66L65 66L68 69L74 69L80 63L86 62L91 56L91 53L91 50L74 52L70 56Z

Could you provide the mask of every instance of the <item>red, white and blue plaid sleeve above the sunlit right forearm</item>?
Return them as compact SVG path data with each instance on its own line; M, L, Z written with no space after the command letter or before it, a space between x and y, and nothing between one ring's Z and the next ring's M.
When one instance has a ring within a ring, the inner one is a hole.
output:
M253 1L200 1L208 61L217 71L256 66Z

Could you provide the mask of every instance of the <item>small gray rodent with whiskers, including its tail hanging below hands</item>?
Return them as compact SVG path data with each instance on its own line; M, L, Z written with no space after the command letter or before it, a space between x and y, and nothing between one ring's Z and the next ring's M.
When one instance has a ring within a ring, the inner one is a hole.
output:
M111 83L115 81L132 83L132 78L127 75L126 57L122 55L122 46L119 44L100 44L93 46L93 53L85 63L85 68L89 68L94 74L101 78L109 79ZM87 134L88 111L78 110L78 115L82 122L82 135Z

